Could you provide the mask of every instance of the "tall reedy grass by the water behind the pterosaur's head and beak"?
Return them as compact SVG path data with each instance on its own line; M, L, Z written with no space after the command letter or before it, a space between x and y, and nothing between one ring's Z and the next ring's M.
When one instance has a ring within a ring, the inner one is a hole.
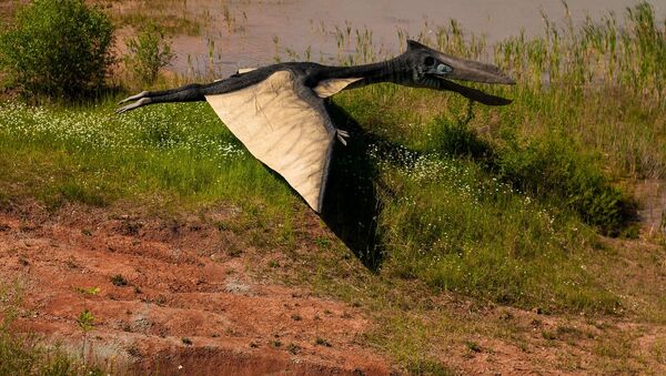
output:
M574 24L563 4L564 24L544 14L543 35L521 33L493 48L483 35L466 33L455 20L446 26L426 22L414 35L398 29L398 42L404 49L404 41L415 38L463 58L494 60L509 72L518 82L515 88L483 88L515 100L503 113L503 132L511 125L518 138L567 133L579 151L605 159L603 164L615 176L666 177L665 20L655 18L649 3L639 2L627 8L622 20L608 13L601 21L587 18ZM339 27L335 38L344 64L389 58L387 50L373 45L367 30ZM431 119L440 110L431 108L421 114ZM487 124L472 125L487 129Z

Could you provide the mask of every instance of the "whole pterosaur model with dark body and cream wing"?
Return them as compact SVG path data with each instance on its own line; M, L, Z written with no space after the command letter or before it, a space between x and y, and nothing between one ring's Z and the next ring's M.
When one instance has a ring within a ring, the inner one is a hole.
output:
M244 69L209 84L144 91L121 103L123 113L143 105L208 101L250 153L282 175L317 213L322 211L335 139L349 134L331 121L324 100L342 90L377 82L447 90L487 105L511 103L448 81L513 84L495 65L463 60L407 41L394 59L367 65L325 67L287 62Z

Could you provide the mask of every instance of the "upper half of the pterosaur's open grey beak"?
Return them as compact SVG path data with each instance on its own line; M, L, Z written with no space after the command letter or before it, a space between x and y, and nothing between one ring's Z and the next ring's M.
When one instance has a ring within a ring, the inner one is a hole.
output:
M438 52L438 60L453 70L442 78L483 83L515 84L516 82L504 74L500 68L478 61L465 60Z

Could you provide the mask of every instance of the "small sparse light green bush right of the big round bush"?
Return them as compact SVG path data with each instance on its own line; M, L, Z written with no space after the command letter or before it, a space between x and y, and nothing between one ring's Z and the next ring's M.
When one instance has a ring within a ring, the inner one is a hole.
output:
M154 24L149 24L137 38L129 39L125 45L130 52L125 57L125 67L141 83L155 82L160 69L173 59L171 42Z

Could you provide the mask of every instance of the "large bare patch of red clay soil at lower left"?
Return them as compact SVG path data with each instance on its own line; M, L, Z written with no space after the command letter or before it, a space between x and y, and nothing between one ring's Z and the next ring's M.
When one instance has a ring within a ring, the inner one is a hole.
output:
M24 285L18 325L81 352L77 317L95 326L88 358L121 373L189 375L391 372L361 346L357 308L263 285L241 257L211 253L224 234L198 223L100 209L37 205L0 212L0 280ZM208 251L205 251L208 250ZM127 280L112 277L122 275ZM84 302L77 287L99 287Z

